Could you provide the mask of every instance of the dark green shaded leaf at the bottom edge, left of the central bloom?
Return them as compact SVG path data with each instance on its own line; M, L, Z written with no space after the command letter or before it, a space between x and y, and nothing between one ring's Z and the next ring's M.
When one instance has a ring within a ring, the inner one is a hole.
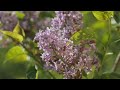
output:
M36 73L37 73L37 70L35 69L35 66L30 66L29 69L27 70L26 76L28 79L35 79Z

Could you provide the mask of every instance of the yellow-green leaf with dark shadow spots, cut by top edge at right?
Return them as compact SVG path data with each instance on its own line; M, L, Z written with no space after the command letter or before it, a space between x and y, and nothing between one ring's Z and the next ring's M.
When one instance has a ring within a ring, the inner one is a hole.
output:
M109 20L114 15L113 11L92 11L92 13L100 21Z

